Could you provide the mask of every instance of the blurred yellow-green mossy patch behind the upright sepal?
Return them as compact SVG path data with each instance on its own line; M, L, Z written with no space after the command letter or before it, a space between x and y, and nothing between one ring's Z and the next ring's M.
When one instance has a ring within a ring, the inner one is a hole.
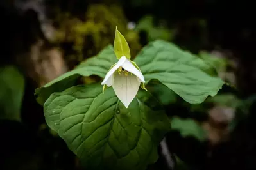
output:
M92 4L81 19L70 13L58 12L55 22L56 37L53 42L64 50L68 62L80 63L112 44L116 26L130 45L132 59L141 50L139 35L127 28L123 10L117 5Z

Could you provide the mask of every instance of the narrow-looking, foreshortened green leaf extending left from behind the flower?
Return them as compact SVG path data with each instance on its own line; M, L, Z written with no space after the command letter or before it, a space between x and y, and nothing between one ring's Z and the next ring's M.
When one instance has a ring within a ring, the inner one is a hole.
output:
M117 62L112 45L108 45L93 58L87 59L78 65L74 70L64 73L46 85L37 88L35 95L37 101L43 105L53 92L60 92L74 86L80 76L98 75L105 77L108 69Z

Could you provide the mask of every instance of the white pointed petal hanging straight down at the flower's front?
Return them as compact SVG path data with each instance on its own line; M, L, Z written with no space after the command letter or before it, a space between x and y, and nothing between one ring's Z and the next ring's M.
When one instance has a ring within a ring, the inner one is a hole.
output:
M141 82L138 81L136 75L124 75L123 72L119 74L115 72L114 82L112 84L115 95L121 100L126 108L130 105L133 98L138 93Z

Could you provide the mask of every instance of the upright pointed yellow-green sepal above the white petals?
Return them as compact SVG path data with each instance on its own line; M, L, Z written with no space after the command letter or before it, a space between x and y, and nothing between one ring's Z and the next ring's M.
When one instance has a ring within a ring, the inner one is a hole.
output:
M131 58L130 47L124 36L117 30L117 27L115 29L114 51L117 59L120 59L122 56L126 56L128 59Z

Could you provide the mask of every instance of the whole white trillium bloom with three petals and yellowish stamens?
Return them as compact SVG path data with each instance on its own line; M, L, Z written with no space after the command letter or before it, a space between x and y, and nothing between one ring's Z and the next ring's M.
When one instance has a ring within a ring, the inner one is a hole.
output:
M113 86L115 95L128 108L138 93L141 82L145 82L141 71L126 56L122 56L108 71L101 85Z

